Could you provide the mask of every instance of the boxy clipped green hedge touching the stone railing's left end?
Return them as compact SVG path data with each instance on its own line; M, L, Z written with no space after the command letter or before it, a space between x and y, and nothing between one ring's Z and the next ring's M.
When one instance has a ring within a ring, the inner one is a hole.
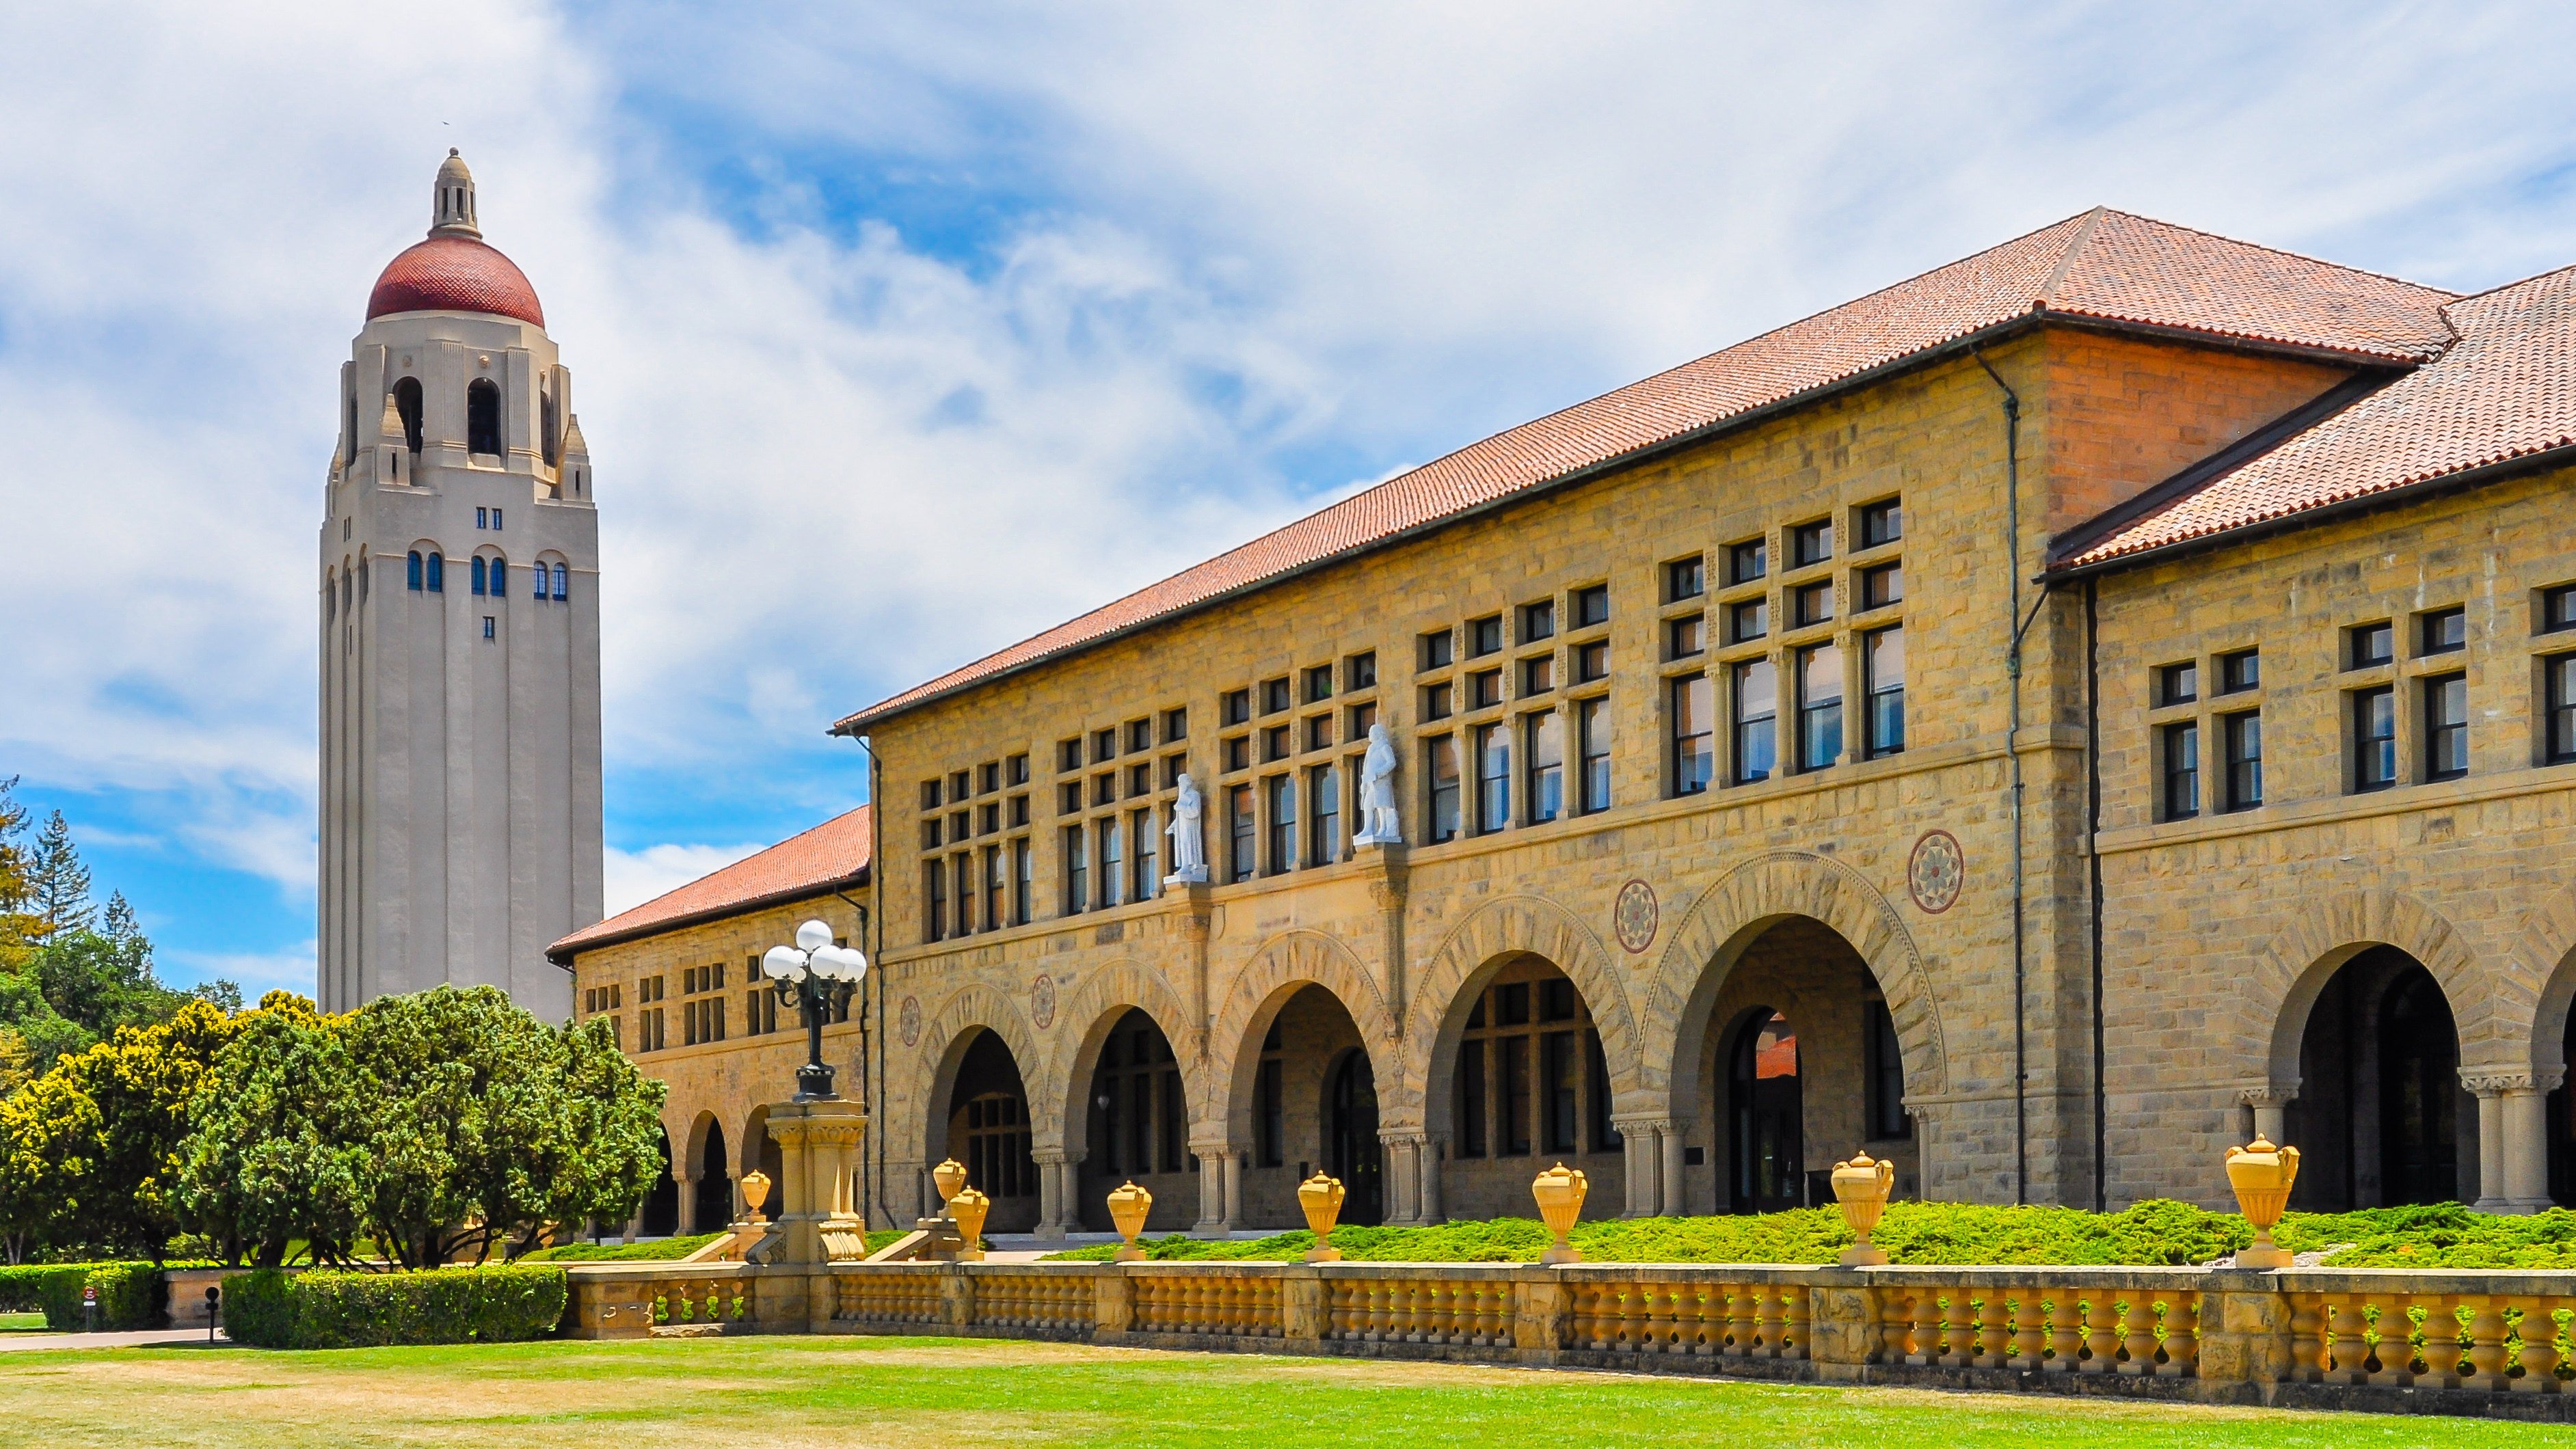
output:
M564 1318L564 1269L507 1264L420 1274L281 1274L232 1279L224 1328L258 1349L515 1343Z

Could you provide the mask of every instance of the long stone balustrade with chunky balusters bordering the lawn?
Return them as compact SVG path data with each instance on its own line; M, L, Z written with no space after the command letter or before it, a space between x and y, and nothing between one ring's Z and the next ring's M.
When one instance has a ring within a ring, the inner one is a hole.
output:
M574 1264L567 1331L2128 1392L2576 1421L2576 1274L1739 1264Z

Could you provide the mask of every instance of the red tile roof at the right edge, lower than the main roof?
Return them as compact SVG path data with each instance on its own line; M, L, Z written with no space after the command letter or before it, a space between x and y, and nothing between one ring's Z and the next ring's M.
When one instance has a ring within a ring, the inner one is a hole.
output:
M2439 484L2576 443L2576 268L2452 301L2458 342L2249 461L2071 543L2058 569L2172 548L2318 507Z

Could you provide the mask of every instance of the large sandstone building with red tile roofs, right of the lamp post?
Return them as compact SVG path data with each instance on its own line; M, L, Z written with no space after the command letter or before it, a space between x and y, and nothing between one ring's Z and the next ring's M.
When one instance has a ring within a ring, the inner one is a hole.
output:
M2568 1199L2571 296L2092 211L853 713L876 1220Z

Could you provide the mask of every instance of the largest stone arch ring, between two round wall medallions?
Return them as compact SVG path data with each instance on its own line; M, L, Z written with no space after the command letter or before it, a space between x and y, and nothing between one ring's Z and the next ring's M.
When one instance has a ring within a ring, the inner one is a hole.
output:
M1651 1063L1669 1063L1654 1086L1677 1112L1692 1102L1700 1081L1698 1042L1708 1032L1708 1011L1726 975L1762 932L1806 916L1842 937L1878 983L1896 1022L1896 1050L1906 1066L1906 1096L1932 1096L1947 1086L1950 1055L1942 1042L1940 1004L1924 973L1922 950L1906 932L1896 906L1850 865L1803 852L1775 849L1718 875L1690 903L1656 957L1646 993L1646 1042ZM1690 1042L1692 1050L1682 1050Z

